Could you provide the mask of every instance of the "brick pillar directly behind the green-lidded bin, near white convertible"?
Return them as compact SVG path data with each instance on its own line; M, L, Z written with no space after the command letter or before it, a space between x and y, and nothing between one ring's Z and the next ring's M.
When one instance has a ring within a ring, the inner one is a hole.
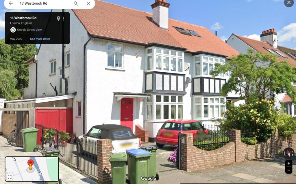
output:
M97 140L97 161L98 161L98 180L99 184L111 184L111 164L109 156L112 153L112 140Z

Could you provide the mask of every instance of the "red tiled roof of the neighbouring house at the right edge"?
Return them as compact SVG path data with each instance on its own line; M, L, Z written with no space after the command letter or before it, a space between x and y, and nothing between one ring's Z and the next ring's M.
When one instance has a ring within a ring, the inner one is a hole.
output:
M249 45L250 47L252 47L253 49L255 49L258 52L262 52L264 54L270 54L270 52L268 50L266 50L264 47L269 48L269 49L275 49L275 50L278 50L279 52L281 52L279 49L276 49L276 48L272 47L267 42L261 42L261 41L258 41L258 40L254 40L254 39L250 39L250 38L247 38L247 37L239 36L237 34L233 34L233 35L238 37L240 40L242 40L243 42L245 42L247 45ZM287 61L292 67L296 66L296 61L294 59L289 57L284 52L281 52L281 53L283 55L287 56L288 58L284 58L284 57L279 56L277 58L277 61Z

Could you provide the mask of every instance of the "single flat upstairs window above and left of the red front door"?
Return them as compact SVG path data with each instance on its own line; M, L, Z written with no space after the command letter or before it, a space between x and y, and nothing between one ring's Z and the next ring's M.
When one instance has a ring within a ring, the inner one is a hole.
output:
M108 44L108 67L122 68L122 47Z

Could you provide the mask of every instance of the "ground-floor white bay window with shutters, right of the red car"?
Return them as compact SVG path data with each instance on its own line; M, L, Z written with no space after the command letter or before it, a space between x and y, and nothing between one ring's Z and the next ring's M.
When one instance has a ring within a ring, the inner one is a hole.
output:
M200 103L196 103L195 98L200 98ZM204 99L207 98L207 103L204 103ZM213 102L210 101L210 98L214 98ZM219 99L219 103L216 103L216 99ZM223 99L223 101L222 101ZM222 103L221 103L222 102ZM194 104L194 116L193 119L196 120L209 120L212 118L222 118L224 115L221 114L221 107L223 108L223 112L225 111L225 102L226 102L226 98L223 96L201 96L201 95L197 95L194 96L193 98L193 104ZM201 117L196 117L196 105L200 105L200 113L201 113ZM208 117L204 116L204 106L208 106ZM210 106L213 106L213 117L210 116ZM216 113L216 106L219 106L219 110L218 110L218 117L215 116Z

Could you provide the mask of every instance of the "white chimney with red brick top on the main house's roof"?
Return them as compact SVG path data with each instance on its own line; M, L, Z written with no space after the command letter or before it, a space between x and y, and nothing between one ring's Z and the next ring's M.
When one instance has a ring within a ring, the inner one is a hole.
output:
M165 0L155 0L151 5L153 13L153 21L162 29L168 29L168 7L169 3Z

